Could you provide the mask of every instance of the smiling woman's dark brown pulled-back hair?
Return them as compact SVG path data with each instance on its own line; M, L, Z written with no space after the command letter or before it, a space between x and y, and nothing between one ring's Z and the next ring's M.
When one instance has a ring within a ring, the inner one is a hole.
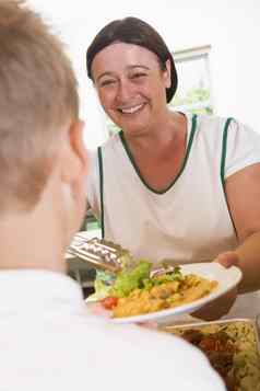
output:
M113 21L99 31L86 51L88 78L92 79L91 68L94 57L115 42L139 45L153 51L158 58L162 70L166 69L166 61L170 61L172 84L166 89L166 101L169 103L178 84L174 58L161 35L150 24L138 18L130 16Z

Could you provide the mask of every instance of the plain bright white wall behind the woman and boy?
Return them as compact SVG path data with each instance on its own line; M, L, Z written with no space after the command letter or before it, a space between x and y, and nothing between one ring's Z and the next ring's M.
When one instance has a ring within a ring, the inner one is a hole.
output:
M85 74L85 49L106 23L127 15L151 23L173 50L212 45L211 74L216 114L235 116L260 133L259 0L31 0L68 44L86 120L86 140L99 143L102 110Z

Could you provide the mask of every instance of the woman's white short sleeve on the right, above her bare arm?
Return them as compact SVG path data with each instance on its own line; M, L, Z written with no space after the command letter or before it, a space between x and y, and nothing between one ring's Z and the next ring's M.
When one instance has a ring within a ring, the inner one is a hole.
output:
M225 179L259 162L260 135L233 119L227 129Z

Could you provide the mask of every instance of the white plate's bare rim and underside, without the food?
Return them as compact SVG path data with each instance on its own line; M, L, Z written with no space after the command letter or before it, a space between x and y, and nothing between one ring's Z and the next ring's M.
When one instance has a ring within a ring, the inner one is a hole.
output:
M228 290L234 288L239 284L241 279L241 271L232 266L229 268L223 267L221 264L216 262L210 263L194 263L188 265L181 265L181 273L186 274L196 274L201 277L205 277L211 280L216 280L218 283L217 287L208 296L189 302L187 304L182 304L176 308L161 310L156 312L150 312L142 315L127 317L127 318L110 318L114 323L143 323L143 322L156 322L156 323L169 323L170 321L176 319L176 315L191 313L196 310L199 310L201 307L211 302L212 300L221 297L226 294ZM106 315L109 314L110 311L106 311Z

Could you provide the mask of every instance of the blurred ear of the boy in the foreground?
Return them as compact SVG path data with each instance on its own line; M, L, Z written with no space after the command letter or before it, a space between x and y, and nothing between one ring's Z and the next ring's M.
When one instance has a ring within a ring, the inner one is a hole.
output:
M62 181L74 183L86 175L87 152L83 141L84 123L78 120L68 130L62 162Z

